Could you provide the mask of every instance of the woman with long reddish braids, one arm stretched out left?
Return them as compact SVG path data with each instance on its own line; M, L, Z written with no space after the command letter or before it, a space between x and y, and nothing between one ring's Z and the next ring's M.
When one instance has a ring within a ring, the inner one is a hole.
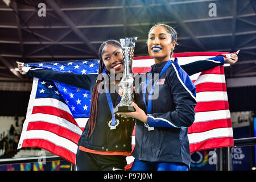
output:
M114 75L123 72L121 44L117 40L107 40L101 44L98 56L100 57L98 74L77 75L46 69L30 69L27 75L49 78L90 90L92 95L90 116L79 139L76 169L123 170L127 165L126 156L131 155L131 135L135 121L133 118L120 118L115 115L113 128L111 123L113 114L107 99L109 96L110 102L115 107L121 98L116 92L118 88L115 88L120 79L113 81L110 79L110 71L113 70ZM22 63L18 62L18 68L22 74L25 73L22 71ZM113 87L114 92L110 92ZM100 92L100 89L108 90L109 94Z

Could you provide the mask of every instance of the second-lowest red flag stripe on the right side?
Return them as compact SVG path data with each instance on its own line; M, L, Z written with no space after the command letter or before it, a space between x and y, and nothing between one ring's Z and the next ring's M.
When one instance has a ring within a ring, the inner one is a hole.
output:
M232 127L231 119L217 119L213 121L196 122L188 128L188 134L201 133L218 128Z

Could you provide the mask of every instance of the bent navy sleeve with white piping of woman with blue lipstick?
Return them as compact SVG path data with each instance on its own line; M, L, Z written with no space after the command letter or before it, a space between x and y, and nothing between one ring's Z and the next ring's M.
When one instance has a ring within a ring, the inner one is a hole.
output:
M166 77L173 95L175 110L148 115L150 127L189 127L195 121L196 87L178 64L172 64L170 76Z

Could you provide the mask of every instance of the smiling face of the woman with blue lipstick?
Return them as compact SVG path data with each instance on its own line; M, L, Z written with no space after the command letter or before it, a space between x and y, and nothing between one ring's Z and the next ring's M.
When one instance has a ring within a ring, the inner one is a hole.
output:
M175 47L175 41L163 26L153 28L148 34L147 49L151 57L155 58L155 63L168 61L172 49Z

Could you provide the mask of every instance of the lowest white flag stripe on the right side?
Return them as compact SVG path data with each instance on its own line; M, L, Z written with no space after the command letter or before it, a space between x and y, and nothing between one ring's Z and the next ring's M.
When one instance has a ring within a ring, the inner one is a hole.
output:
M189 144L203 142L212 138L233 137L232 127L218 128L201 133L188 134Z

